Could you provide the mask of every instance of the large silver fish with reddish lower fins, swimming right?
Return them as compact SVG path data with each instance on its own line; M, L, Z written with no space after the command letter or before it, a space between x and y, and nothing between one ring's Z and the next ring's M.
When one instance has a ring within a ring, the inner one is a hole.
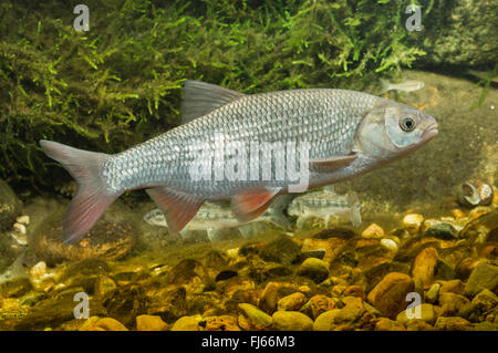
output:
M66 242L81 239L127 190L147 189L173 232L206 200L231 200L235 215L249 221L277 195L350 179L406 156L437 134L436 121L416 108L346 90L247 95L186 81L181 114L180 126L114 155L40 141L77 183L62 225ZM280 173L281 150L276 147L272 158L256 148L258 143L286 146L287 173ZM232 145L237 154L222 147ZM293 146L298 152L292 153ZM234 155L247 165L234 166ZM297 166L299 175L289 172Z

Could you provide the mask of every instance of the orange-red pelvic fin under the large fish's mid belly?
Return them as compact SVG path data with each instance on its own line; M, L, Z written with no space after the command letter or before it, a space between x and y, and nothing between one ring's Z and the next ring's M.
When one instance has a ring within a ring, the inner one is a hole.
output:
M231 198L231 207L240 220L250 221L264 212L279 191L280 188L248 189Z

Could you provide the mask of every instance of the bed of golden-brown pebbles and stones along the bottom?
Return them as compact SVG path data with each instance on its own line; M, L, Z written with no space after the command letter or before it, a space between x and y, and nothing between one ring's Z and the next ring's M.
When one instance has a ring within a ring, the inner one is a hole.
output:
M175 263L39 262L0 283L0 330L498 330L496 203L406 215L390 232L372 224L204 248ZM80 292L87 319L74 316Z

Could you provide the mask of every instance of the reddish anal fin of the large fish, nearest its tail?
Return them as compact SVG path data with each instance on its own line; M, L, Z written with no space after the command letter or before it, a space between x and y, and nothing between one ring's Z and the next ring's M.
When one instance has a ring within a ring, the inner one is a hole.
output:
M204 199L167 187L156 187L146 191L154 203L163 209L172 232L184 229L204 203Z

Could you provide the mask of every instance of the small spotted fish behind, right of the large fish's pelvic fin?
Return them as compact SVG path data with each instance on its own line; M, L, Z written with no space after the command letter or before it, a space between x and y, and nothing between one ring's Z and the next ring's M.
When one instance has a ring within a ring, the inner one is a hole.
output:
M359 227L362 222L357 194L350 191L346 195L338 195L331 187L294 198L288 214L298 217L297 227L300 229L312 217L324 219L325 227L329 226L330 218L338 222L349 220L353 227Z

